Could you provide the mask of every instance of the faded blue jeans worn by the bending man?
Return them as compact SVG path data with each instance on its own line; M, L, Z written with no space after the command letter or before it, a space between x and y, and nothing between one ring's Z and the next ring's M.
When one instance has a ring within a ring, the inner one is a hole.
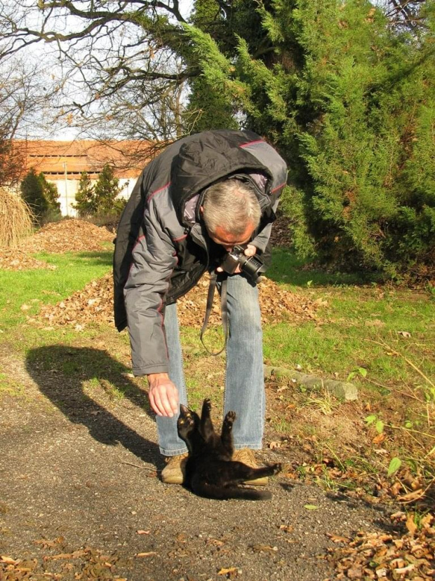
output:
M234 448L258 450L262 446L265 424L261 315L257 287L243 275L228 277L227 308L229 336L224 414L231 410L236 412ZM169 377L178 388L180 403L187 406L176 304L166 307L165 329ZM156 423L160 451L164 456L187 451L185 443L178 437L177 417L156 416Z

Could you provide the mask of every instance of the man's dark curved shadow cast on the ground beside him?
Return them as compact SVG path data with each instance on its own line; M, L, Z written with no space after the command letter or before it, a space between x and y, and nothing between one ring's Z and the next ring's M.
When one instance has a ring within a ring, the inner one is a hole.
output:
M159 465L155 442L140 436L83 390L83 383L89 380L106 387L109 397L116 390L154 419L147 395L126 376L129 370L107 351L63 345L39 347L29 351L26 367L41 392L69 421L86 425L102 444L121 444L140 460Z

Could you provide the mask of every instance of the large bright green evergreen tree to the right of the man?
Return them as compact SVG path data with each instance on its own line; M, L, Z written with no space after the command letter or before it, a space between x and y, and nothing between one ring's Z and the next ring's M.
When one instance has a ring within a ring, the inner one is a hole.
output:
M231 6L234 43L218 34L220 16L187 33L210 90L288 160L297 250L391 275L429 262L434 1L414 34L364 0Z

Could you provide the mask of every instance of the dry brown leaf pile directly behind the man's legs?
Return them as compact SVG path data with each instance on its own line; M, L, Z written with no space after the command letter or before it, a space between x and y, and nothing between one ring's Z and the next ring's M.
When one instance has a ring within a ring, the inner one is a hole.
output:
M304 320L316 320L318 306L316 301L302 299L266 278L260 282L258 288L264 322L288 320L297 323ZM204 278L178 300L180 324L185 327L201 327L206 310L207 291L208 278ZM83 290L75 292L57 305L44 306L39 317L46 326L71 324L76 329L83 328L89 322L112 323L112 274L109 273L99 280L93 280ZM32 320L32 322L36 321ZM217 296L215 296L209 324L211 326L220 324L220 305Z

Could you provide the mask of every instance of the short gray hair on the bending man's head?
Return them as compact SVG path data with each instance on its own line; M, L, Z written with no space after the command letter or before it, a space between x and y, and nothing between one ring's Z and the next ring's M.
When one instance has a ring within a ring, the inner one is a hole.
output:
M234 236L246 231L249 224L260 224L261 208L252 188L240 179L225 179L210 186L203 197L203 219L210 233L217 226Z

